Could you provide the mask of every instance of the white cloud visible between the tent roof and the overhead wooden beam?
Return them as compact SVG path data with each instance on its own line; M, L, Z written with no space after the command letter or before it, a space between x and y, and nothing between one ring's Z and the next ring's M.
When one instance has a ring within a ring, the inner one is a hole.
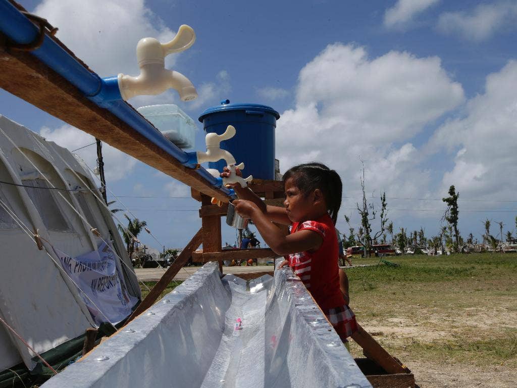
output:
M88 135L88 133L66 124L56 129L43 127L40 130L40 135L70 151L95 142L95 138L92 135ZM90 145L75 153L86 162L90 169L94 169L97 166L95 145ZM117 181L126 177L133 171L136 165L136 159L106 143L102 143L102 156L107 181Z

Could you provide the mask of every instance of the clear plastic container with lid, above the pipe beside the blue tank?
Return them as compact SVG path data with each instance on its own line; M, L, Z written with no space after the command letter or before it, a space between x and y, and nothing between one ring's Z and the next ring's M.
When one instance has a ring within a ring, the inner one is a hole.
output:
M176 105L149 105L136 110L179 148L194 148L197 127Z

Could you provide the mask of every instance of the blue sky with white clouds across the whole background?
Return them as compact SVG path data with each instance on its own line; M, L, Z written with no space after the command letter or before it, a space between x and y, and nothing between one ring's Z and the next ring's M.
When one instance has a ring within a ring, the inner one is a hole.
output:
M176 103L196 122L226 98L275 108L281 171L320 160L340 173L347 197L338 221L343 231L344 214L352 215L354 227L359 222L353 210L360 200L359 157L368 195L386 191L396 230L424 227L428 236L437 234L444 210L439 199L451 184L460 191L463 236L480 238L485 218L493 221L494 235L495 221L506 224L505 232L515 230L515 2L21 4L59 27L58 38L101 76L138 74L140 38L165 41L179 25L192 26L196 42L169 56L167 66L185 74L200 97L181 102L167 92L129 102ZM1 114L70 150L92 142L4 91L0 107ZM196 148L202 150L197 124ZM148 222L160 244L184 246L201 225L188 188L109 146L104 151L110 189ZM95 146L78 154L94 167ZM372 201L377 205L378 198ZM160 248L148 235L141 240ZM233 243L235 231L224 226L225 241Z

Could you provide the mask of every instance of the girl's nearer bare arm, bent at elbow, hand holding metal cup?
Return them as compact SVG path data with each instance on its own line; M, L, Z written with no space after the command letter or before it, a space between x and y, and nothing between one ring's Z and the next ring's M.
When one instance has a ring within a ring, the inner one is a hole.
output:
M312 230L300 230L287 236L284 235L254 202L235 200L233 203L237 213L242 217L251 218L266 244L279 256L316 250L323 243L323 237Z

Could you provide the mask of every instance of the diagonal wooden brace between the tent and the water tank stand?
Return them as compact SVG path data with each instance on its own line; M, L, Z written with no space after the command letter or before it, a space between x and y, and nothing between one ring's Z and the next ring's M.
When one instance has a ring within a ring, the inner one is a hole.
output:
M187 264L187 261L189 261L192 252L201 245L202 238L203 232L202 229L200 229L197 231L194 237L192 237L192 240L190 240L185 249L181 251L174 263L172 263L172 265L167 268L167 271L165 271L161 279L158 280L158 282L155 284L155 287L153 287L153 289L147 294L140 305L136 307L136 309L133 311L133 314L131 314L124 325L127 325L156 302L163 290L165 290L171 280L174 279L174 276L176 276L179 270L181 270L181 267Z

